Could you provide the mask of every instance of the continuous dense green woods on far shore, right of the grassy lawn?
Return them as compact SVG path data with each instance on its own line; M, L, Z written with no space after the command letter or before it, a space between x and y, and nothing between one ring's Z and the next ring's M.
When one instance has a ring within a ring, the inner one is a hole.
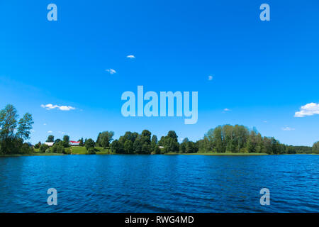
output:
M157 141L157 136L144 130L141 134L126 132L113 140L111 150L121 154L165 154L165 153L267 153L296 154L319 153L319 142L313 148L279 143L275 138L262 137L256 129L245 126L218 126L209 130L203 139L196 142L188 138L179 143L175 131L169 131Z

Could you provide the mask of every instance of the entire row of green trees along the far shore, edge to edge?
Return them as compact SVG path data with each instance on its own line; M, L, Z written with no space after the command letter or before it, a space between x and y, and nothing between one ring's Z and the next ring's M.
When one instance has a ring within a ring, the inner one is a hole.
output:
M34 149L25 140L30 138L33 126L31 114L26 113L18 120L14 106L7 105L0 111L0 154L28 154ZM313 147L284 145L274 137L262 136L256 128L250 130L240 125L223 125L209 130L201 140L196 142L188 138L179 143L177 133L169 131L167 135L157 140L156 135L148 130L142 133L126 132L120 138L113 140L113 131L99 133L96 140L91 138L79 139L79 146L84 146L89 154L96 153L96 147L110 148L118 154L167 154L167 153L267 153L267 154L296 154L319 153L319 141ZM69 135L62 140L55 140L53 135L46 142L53 142L49 148L44 143L35 144L42 153L70 154Z

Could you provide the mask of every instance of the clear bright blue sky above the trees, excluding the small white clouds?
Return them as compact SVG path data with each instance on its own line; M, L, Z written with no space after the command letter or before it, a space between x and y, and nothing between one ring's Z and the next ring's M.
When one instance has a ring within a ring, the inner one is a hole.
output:
M50 3L57 21L47 21ZM263 3L270 21L259 19ZM319 104L318 10L315 0L1 1L0 107L33 114L32 143L145 128L198 140L230 123L312 145L319 107L295 113ZM123 117L121 94L136 94L138 85L157 94L198 92L198 122Z

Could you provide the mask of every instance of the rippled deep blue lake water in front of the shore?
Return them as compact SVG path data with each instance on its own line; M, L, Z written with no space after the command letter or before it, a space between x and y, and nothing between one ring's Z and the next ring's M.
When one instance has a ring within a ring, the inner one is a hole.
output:
M0 157L0 212L318 212L318 177L319 155Z

